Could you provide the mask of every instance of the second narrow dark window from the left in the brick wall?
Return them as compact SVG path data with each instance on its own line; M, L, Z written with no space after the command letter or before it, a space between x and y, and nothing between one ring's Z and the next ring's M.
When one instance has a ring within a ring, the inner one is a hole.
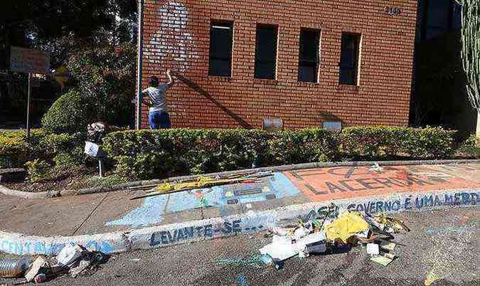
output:
M255 78L275 79L278 26L257 24Z

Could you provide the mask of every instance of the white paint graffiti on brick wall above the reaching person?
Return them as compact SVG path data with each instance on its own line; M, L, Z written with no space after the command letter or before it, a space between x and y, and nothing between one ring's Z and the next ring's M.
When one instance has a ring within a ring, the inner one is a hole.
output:
M169 1L160 7L159 27L144 48L144 57L150 63L183 72L198 58L193 36L187 30L188 17L187 7L180 2Z

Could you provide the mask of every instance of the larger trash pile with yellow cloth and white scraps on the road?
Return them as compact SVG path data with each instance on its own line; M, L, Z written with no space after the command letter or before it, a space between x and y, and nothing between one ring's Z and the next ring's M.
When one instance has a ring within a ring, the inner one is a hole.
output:
M333 204L329 210L336 209ZM337 208L338 209L338 208ZM330 211L329 211L330 213ZM331 218L299 220L297 226L269 228L272 243L260 249L265 265L282 268L285 260L297 256L335 253L336 250L361 246L370 260L387 266L395 260L393 233L410 231L402 221L390 216L370 216L358 211L345 211Z

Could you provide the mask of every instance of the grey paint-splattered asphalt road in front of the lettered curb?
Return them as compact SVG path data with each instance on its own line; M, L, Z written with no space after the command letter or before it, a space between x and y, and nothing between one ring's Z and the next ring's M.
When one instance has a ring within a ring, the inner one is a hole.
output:
M433 285L480 285L479 214L475 207L398 214L412 231L395 235L402 245L387 267L361 248L291 258L282 270L218 265L257 254L270 243L259 234L114 255L90 275L43 285L424 285L427 275L439 278Z

